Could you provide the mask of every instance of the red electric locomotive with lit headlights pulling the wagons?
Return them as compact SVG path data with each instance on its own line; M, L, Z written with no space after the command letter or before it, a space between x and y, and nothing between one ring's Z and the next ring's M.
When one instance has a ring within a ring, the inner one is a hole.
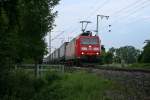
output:
M70 63L99 61L101 54L100 39L90 31L80 34L66 45L65 61Z

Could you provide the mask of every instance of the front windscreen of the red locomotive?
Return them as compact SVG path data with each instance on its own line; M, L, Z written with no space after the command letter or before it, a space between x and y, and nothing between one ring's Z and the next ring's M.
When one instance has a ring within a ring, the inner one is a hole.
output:
M81 38L81 44L98 44L97 38Z

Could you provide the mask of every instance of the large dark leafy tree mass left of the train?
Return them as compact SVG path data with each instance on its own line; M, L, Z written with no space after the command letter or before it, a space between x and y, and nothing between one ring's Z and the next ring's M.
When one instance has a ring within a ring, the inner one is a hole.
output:
M0 0L0 66L24 59L39 63L46 52L44 37L54 26L59 0Z

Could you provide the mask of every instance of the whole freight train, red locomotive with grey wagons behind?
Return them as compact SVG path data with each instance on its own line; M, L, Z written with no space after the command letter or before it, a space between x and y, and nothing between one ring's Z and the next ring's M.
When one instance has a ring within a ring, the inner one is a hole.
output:
M97 63L101 55L101 41L92 32L86 31L63 43L54 50L45 60L45 63L63 63L68 65L80 65L82 63Z

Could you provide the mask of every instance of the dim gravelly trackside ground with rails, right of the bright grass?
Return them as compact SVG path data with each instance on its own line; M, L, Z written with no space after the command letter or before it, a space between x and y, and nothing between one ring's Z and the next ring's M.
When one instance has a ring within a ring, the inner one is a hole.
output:
M109 91L107 95L113 98L112 100L150 100L150 70L109 67L74 67L74 69L86 70L122 85L124 87L122 91L127 94ZM122 97L124 99L121 99Z

